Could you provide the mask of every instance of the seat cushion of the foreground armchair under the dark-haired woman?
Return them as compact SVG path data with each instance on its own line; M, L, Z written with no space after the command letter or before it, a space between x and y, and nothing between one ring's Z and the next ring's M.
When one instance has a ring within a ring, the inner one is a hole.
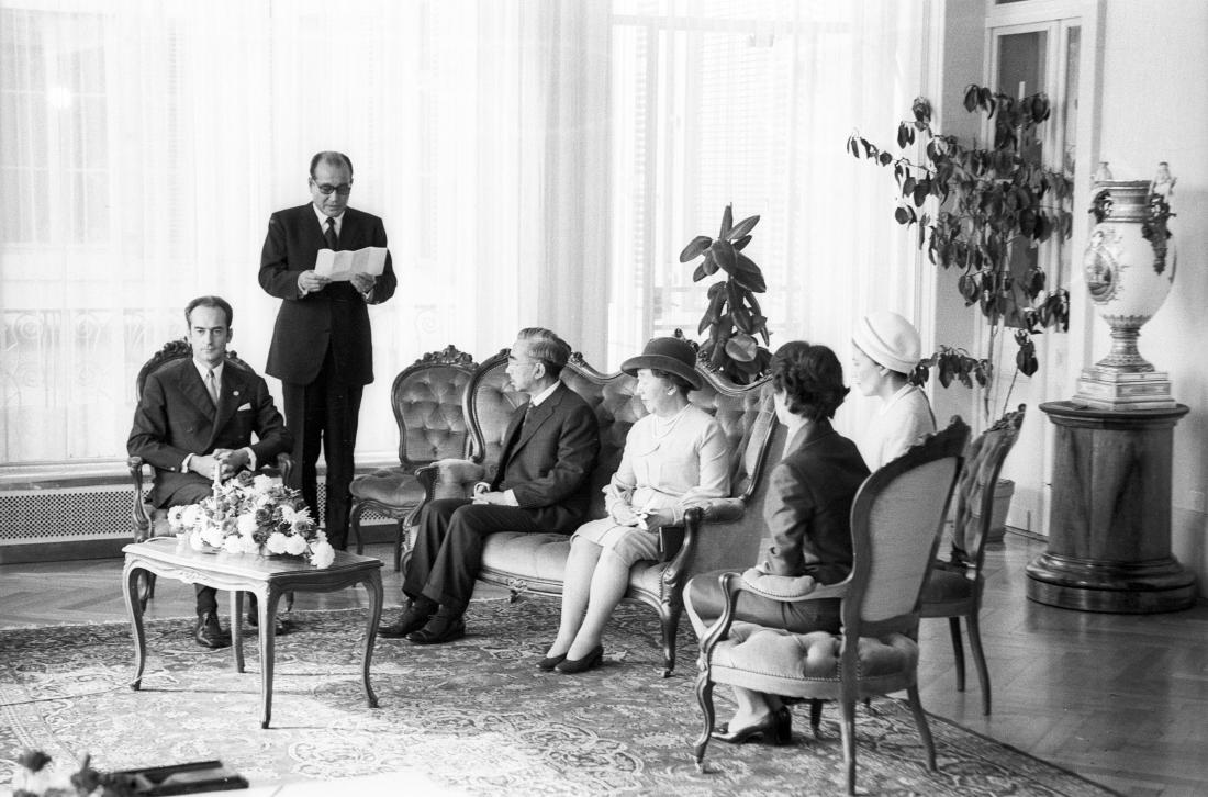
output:
M771 694L837 697L840 636L794 634L736 622L713 650L713 680ZM914 682L918 642L904 634L865 636L859 645L861 693L877 694Z

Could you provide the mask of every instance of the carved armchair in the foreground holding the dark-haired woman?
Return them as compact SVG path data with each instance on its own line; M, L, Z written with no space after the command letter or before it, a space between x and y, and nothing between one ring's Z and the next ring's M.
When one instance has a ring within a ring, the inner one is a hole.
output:
M969 427L946 430L870 476L852 506L853 568L847 580L766 576L757 570L721 576L726 604L703 628L696 693L703 728L693 755L703 770L714 725L715 683L812 702L818 733L820 700L838 700L848 793L855 793L855 704L905 690L935 769L935 746L918 696L919 595L927 581L960 470ZM736 597L755 592L784 601L842 599L842 632L796 634L734 619Z

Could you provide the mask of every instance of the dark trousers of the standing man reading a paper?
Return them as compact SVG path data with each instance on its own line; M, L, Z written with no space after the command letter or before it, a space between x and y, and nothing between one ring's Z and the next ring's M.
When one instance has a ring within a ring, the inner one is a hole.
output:
M290 487L302 490L315 523L319 516L318 463L323 448L327 463L327 501L323 518L327 542L338 549L348 545L348 508L356 450L356 424L361 413L364 385L344 384L331 349L310 384L281 383L285 425L294 434L294 471Z

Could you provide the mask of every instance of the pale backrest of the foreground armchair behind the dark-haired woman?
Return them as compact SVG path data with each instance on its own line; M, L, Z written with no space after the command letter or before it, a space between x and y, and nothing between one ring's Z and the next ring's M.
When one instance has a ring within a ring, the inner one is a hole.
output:
M969 426L959 418L872 473L852 505L852 582L844 633L913 633L919 595L960 472Z

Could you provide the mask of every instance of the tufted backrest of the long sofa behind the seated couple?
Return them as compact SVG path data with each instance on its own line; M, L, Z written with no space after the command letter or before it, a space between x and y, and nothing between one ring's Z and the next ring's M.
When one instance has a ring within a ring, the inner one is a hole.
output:
M506 366L506 349L484 360L470 378L464 395L472 458L484 464L488 472L494 472L499 464L509 418L527 401L523 394L512 390L504 373ZM703 363L698 362L696 370L704 386L690 392L689 400L713 414L721 425L732 458L731 495L748 500L760 481L777 425L772 384L765 379L754 385L734 385ZM604 517L602 490L621 464L629 427L646 414L641 400L634 395L638 380L626 373L597 371L579 353L571 355L561 378L587 401L599 423L600 452L588 482L590 513L593 518Z

